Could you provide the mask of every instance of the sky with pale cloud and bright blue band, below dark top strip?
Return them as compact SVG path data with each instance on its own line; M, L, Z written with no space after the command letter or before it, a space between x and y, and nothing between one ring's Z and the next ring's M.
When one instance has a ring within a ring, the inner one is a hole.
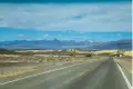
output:
M0 3L0 41L131 39L130 0L104 1Z

